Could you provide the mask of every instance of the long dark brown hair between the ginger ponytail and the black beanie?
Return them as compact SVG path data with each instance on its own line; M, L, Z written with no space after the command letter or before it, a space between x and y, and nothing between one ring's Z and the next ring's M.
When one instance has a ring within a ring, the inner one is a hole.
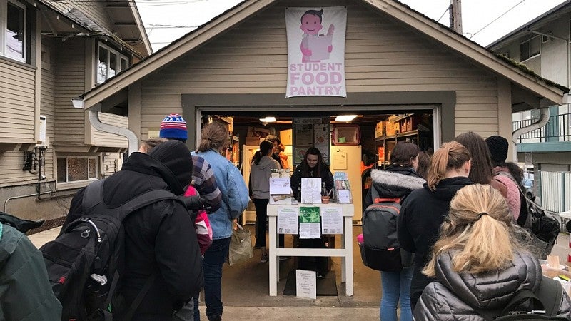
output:
M492 180L492 159L484 138L469 131L456 136L454 140L468 149L472 156L472 166L468 176L470 180L477 184L489 184Z

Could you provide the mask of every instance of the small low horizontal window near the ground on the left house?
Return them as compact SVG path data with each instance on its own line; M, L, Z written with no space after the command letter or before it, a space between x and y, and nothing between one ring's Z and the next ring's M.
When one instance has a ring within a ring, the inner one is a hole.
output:
M96 180L98 176L96 157L58 157L58 183Z

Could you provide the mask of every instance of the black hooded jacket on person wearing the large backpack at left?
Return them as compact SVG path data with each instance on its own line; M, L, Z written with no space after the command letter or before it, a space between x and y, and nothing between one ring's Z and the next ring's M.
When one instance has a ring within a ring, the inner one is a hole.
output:
M191 182L189 155L190 151L180 141L161 143L149 155L132 153L121 171L106 178L103 200L111 206L120 205L156 189L183 194L184 186ZM71 201L66 224L82 215L84 190ZM181 203L162 200L131 213L123 220L123 227L125 272L117 292L119 300L113 302L113 314L121 320L121 312L128 309L154 274L153 285L133 320L171 320L173 311L203 286L201 254L191 215Z

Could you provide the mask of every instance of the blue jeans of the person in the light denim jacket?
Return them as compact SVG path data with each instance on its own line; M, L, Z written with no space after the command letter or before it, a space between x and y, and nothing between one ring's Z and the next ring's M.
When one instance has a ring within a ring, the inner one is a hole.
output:
M206 317L222 315L222 266L228 255L231 238L213 240L202 263L204 273L204 303L206 304ZM194 299L194 320L201 320L198 311L198 297Z

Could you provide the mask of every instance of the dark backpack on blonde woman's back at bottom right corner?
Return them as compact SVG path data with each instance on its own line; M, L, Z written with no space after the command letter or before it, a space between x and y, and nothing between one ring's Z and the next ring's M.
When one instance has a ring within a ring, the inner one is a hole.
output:
M542 277L541 284L532 292L518 290L502 310L475 311L485 320L568 320L567 317L557 317L563 299L563 287L557 280ZM522 305L529 301L528 305Z

